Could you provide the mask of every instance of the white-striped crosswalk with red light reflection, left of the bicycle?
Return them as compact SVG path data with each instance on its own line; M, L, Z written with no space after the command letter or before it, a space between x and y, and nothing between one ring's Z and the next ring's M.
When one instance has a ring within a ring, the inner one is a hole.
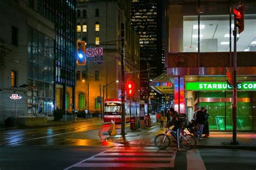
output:
M158 150L151 146L116 146L65 169L72 167L170 168L174 167L176 152L170 149Z

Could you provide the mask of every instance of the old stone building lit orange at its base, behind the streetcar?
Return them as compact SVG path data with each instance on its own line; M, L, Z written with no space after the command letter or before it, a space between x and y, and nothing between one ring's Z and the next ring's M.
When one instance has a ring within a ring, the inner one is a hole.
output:
M127 1L77 2L77 40L85 41L86 49L101 47L103 61L98 63L86 55L86 66L77 66L76 110L100 112L98 97L120 96L121 23L125 25L125 81L131 80L136 86L134 96L126 99L139 101L139 41L130 18Z

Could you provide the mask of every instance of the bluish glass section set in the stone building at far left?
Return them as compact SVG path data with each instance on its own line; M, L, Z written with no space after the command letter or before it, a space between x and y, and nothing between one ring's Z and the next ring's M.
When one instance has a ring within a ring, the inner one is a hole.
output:
M29 28L28 115L52 115L54 40Z

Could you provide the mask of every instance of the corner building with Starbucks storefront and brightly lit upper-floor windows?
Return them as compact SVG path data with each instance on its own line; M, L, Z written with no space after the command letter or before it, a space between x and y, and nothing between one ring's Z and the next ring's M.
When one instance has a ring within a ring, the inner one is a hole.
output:
M233 9L240 1L169 1L165 9L165 67L174 105L188 119L197 107L210 130L232 130ZM237 34L237 130L256 130L256 4L245 2L245 29Z

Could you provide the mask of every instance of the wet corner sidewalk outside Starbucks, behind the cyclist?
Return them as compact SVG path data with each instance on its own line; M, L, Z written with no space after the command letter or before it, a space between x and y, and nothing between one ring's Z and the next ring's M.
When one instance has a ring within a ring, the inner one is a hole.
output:
M120 135L117 130L116 136L110 136L109 141L113 143L130 144L130 145L147 145L154 146L154 137L165 130L160 129L159 123L153 123L150 128L131 131L130 126L125 129L127 133L125 138ZM187 132L189 133L189 132ZM237 132L238 145L231 145L232 132L210 132L210 137L197 139L197 147L199 148L234 148L256 150L256 133L255 132ZM174 144L171 144L175 146Z

